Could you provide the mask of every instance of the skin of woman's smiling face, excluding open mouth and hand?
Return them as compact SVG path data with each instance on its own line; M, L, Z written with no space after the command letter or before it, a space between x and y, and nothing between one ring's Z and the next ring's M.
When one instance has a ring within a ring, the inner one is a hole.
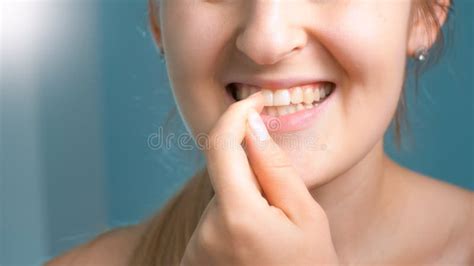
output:
M235 101L230 82L334 85L304 127L272 132L312 187L383 139L403 85L411 10L411 0L162 0L158 41L194 136L209 133Z

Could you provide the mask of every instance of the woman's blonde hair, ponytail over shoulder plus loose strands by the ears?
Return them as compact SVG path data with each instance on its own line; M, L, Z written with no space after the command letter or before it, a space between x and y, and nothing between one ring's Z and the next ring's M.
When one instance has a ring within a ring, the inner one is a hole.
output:
M149 22L155 32L159 31L157 24L156 0L149 1ZM415 10L415 18L423 19L427 26L436 26L441 29L436 15L436 7L449 13L452 5L440 6L436 0L416 0L418 8ZM452 1L451 1L452 2ZM452 3L451 3L452 4ZM431 27L428 27L431 28ZM440 31L438 39L434 42L439 55L442 51L443 35ZM431 55L431 58L436 58ZM431 59L434 62L435 59ZM418 77L421 69L415 69ZM394 116L395 137L399 140L400 129L405 121L406 110L404 95L400 98L399 105ZM196 229L201 215L214 196L214 190L210 183L206 169L200 170L193 176L177 193L152 217L139 244L135 247L130 265L156 266L156 265L179 265L191 235Z

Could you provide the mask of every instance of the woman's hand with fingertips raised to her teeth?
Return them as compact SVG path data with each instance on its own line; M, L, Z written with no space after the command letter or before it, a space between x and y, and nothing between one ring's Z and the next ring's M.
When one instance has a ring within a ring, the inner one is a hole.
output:
M258 92L212 129L205 155L215 195L182 266L338 264L326 214L268 135L262 109Z

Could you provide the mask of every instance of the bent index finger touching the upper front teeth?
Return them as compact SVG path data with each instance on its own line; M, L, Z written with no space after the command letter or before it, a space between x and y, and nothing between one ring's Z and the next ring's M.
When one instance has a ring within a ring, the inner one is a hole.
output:
M209 134L209 145L204 153L210 181L217 201L230 210L264 202L262 190L241 146L249 111L260 112L263 102L261 92L257 92L233 103Z

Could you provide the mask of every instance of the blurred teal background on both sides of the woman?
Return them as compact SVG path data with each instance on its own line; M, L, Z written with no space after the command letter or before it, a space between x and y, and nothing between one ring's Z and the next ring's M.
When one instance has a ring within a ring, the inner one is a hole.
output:
M196 152L147 142L174 103L146 8L145 0L0 4L0 265L39 265L140 221L202 163ZM418 97L409 94L413 141L397 152L386 136L403 165L470 190L473 8L456 2L452 45ZM178 117L167 128L185 132Z

